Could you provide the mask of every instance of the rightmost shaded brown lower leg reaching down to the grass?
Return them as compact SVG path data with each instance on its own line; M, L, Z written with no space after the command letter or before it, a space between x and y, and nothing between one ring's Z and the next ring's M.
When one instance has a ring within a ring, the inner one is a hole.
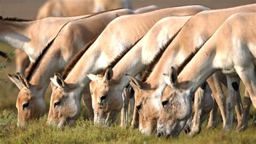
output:
M242 112L242 121L241 121L241 123L239 123L240 125L238 125L236 128L236 130L238 132L242 132L248 127L249 113L250 113L251 105L252 105L252 101L250 99L250 96L249 96L247 90L245 90L244 111Z

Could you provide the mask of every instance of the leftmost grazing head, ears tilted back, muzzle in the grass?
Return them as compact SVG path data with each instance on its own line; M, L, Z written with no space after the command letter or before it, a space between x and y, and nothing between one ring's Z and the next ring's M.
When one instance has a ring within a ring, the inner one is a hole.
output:
M46 112L46 106L41 94L36 93L37 86L31 85L22 73L8 74L12 82L21 90L16 101L18 109L18 126L25 126L26 122L37 120Z

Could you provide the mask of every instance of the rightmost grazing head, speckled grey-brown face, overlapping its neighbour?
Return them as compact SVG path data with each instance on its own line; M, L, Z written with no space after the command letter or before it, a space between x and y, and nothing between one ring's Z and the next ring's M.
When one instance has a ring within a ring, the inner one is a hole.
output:
M178 84L177 78L174 67L171 68L169 76L164 74L168 86L161 98L163 107L157 124L158 136L178 136L191 115L190 92L185 90L183 84Z

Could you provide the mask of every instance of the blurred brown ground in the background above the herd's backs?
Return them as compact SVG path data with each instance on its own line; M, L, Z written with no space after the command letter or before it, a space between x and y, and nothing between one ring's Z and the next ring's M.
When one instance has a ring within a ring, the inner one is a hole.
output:
M31 19L36 16L38 8L44 2L44 0L0 0L0 16ZM134 9L149 4L157 5L160 8L202 4L213 9L220 9L250 3L256 3L256 0L131 0Z

